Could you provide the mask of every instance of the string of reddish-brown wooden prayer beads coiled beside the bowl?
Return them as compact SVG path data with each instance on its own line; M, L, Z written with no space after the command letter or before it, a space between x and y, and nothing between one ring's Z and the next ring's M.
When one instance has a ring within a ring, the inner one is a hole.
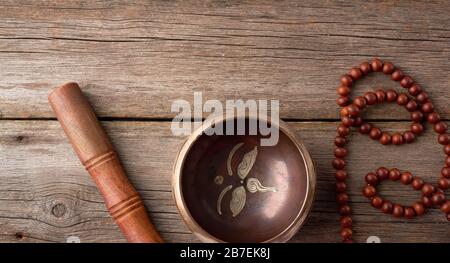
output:
M374 92L366 92L363 96L355 97L352 100L349 97L352 85L370 72L382 72L385 75L390 75L391 79L398 81L406 92L399 93L394 90L378 89ZM426 183L408 171L380 167L375 172L369 172L366 175L366 186L363 187L362 194L369 199L373 207L380 209L385 214L392 214L394 217L411 219L423 215L427 208L439 207L447 220L450 221L450 200L446 199L444 193L445 190L450 188L450 135L447 134L447 124L441 121L428 94L410 76L405 75L391 62L383 63L377 58L370 63L364 62L359 67L352 68L348 74L341 77L340 82L341 86L337 88L339 98L336 102L342 107L340 111L341 123L337 127L337 136L334 140L336 148L334 149L335 159L332 165L336 170L336 199L341 214L340 224L343 242L351 243L353 240L352 210L349 205L345 183L348 174L345 170L346 162L344 160L348 154L348 150L345 148L347 136L350 134L352 127L383 145L402 145L412 143L417 136L420 136L424 131L424 122L428 121L438 134L437 141L443 146L445 154L444 167L437 184L434 186ZM409 130L401 133L388 133L371 123L365 122L360 116L363 109L371 105L388 102L397 103L410 112L412 124ZM422 197L411 206L394 204L385 200L377 193L376 188L385 180L400 181L404 185L411 185L414 190L422 192Z

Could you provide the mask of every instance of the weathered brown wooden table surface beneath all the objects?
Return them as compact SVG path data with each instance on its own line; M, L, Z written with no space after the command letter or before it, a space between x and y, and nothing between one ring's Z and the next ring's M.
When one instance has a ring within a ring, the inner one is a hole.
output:
M293 242L339 241L331 168L341 74L372 57L393 61L450 118L448 1L1 1L0 241L124 242L47 103L80 83L112 137L131 181L168 242L195 242L172 200L170 176L185 139L170 132L176 99L278 99L281 117L305 140L318 171L313 213ZM375 75L356 94L398 84ZM388 130L409 125L394 105L367 111ZM355 239L450 242L438 209L405 221L361 195L379 166L436 182L442 148L428 131L412 145L351 137ZM405 204L420 194L397 183L383 195Z

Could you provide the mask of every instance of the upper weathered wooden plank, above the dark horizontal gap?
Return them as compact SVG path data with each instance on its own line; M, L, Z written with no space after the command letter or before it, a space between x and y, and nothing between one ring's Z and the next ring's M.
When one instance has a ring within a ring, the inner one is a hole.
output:
M283 118L336 119L339 76L378 56L449 119L449 13L444 0L2 0L0 117L54 117L47 94L72 80L102 117L170 118L172 101L203 91L205 100L278 99ZM378 76L357 90L372 85L397 86Z

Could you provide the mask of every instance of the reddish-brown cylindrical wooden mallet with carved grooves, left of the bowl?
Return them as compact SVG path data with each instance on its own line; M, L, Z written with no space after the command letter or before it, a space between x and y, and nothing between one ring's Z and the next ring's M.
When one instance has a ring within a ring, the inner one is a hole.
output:
M48 99L128 242L163 242L80 87L66 83L50 93Z

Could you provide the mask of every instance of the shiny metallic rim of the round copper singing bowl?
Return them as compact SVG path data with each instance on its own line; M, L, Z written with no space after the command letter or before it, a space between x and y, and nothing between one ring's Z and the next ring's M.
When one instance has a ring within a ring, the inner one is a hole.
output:
M192 231L192 233L197 236L202 242L207 243L226 243L226 241L221 240L217 237L214 237L213 235L209 234L205 229L203 229L193 218L191 213L189 212L186 202L183 197L182 193L182 186L181 186L181 180L182 180L182 171L184 162L189 154L189 151L191 150L194 143L203 136L203 132L209 128L212 127L214 123L220 123L220 122L227 122L230 120L235 120L239 118L249 118L249 119L255 119L255 117L249 117L249 116L233 116L233 117L226 117L226 116L216 116L211 117L207 120L205 120L200 127L198 127L194 132L186 139L184 144L182 145L180 151L178 152L178 155L175 159L175 163L173 166L173 175L172 175L172 195L175 200L175 204L177 206L178 212L181 215L183 221L188 226L188 228ZM274 122L271 122L270 117L265 115L258 115L256 117L257 120L263 120L268 123L271 123L272 125ZM308 152L308 149L305 147L305 145L302 143L302 140L297 136L295 131L287 123L285 123L282 120L278 120L278 123L275 124L279 127L279 130L283 132L288 138L291 140L291 142L296 146L297 150L299 151L300 155L303 158L305 169L306 169L306 180L307 180L307 189L306 189L306 195L305 195L305 201L303 202L302 207L298 211L295 219L292 221L292 223L285 228L281 233L278 235L267 239L263 241L262 243L270 243L270 242L287 242L289 239L291 239L298 230L303 226L303 224L306 221L306 218L310 214L310 211L312 209L312 205L314 203L314 197L316 192L316 170L314 166L314 162L311 158L311 155Z

